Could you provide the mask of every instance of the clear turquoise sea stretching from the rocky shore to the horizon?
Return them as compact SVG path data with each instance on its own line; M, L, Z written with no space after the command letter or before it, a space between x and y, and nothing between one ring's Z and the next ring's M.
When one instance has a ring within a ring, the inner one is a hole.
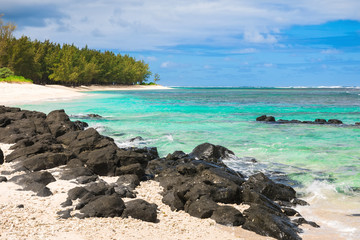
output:
M204 142L225 146L237 156L225 161L230 167L246 174L265 172L309 201L310 207L299 209L322 226L318 235L333 231L338 239L360 238L360 126L354 125L360 122L359 88L98 91L73 101L20 107L46 113L65 109L72 120L88 122L120 147L154 146L160 156L188 153ZM103 118L84 119L89 113ZM255 121L264 114L344 124ZM129 141L136 136L144 140ZM243 157L257 162L244 163Z

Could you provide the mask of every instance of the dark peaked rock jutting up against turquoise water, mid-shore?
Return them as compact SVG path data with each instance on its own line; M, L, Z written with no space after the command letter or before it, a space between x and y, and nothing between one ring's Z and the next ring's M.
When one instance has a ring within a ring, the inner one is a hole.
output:
M226 166L222 162L222 159L228 158L232 155L234 155L234 152L230 151L229 149L223 146L213 145L211 143L200 144L190 153L191 157L214 162L222 166Z

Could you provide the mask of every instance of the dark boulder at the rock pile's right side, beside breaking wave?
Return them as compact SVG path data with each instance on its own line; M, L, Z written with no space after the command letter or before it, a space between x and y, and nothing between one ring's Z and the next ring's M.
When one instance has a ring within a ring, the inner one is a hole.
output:
M263 173L250 176L242 186L243 188L252 189L255 192L261 193L271 200L290 202L296 198L296 192L292 187L275 183Z

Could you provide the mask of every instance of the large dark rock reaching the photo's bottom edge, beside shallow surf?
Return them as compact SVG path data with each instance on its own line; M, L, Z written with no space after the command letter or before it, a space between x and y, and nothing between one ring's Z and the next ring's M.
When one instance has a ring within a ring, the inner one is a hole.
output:
M244 215L246 218L242 225L244 229L276 239L301 240L298 235L300 230L280 212L259 204L251 204L250 208L244 211Z

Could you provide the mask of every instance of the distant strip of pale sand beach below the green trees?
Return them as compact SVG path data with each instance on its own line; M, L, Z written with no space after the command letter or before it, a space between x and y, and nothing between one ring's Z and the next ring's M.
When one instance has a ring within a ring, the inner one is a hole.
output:
M129 90L161 90L169 89L160 85L134 86L80 86L76 88L60 85L37 85L0 83L0 105L12 106L18 104L36 103L42 101L66 101L87 96L89 91L129 91Z

